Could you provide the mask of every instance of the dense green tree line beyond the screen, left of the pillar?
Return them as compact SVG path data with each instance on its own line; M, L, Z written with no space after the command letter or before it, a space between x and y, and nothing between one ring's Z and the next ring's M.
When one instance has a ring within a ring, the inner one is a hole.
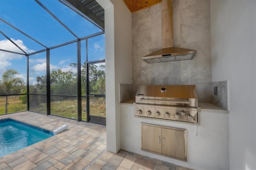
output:
M70 67L77 68L76 63L70 63ZM86 95L86 62L81 65L82 95ZM105 65L89 64L89 91L90 94L105 94ZM37 89L45 88L46 76L38 76ZM52 70L50 73L51 94L76 95L77 94L77 73L63 71L62 69Z

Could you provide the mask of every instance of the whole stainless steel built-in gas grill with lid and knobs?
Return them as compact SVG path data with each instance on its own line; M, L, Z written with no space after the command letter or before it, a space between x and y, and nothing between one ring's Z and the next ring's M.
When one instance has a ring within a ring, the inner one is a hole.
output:
M198 123L195 85L141 85L135 102L136 117Z

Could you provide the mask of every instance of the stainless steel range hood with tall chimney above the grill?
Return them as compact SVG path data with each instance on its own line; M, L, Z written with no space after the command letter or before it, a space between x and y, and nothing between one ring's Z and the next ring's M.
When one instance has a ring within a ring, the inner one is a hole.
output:
M196 50L173 47L172 0L162 0L162 49L142 59L147 63L161 63L193 59Z

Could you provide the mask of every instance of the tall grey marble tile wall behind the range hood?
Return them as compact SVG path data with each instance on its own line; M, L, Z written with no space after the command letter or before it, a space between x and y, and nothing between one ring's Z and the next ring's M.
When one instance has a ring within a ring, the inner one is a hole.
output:
M132 13L133 95L139 85L195 84L198 100L211 102L210 1L173 0L174 46L196 49L193 60L148 64L162 48L162 4Z

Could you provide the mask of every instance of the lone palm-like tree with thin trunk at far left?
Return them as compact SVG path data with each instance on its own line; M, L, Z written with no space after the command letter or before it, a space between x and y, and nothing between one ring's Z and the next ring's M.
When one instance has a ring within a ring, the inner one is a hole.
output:
M20 77L15 77L19 74L15 69L8 69L4 71L0 86L4 94L20 93L24 89L24 81ZM5 101L5 114L7 113L8 96Z

